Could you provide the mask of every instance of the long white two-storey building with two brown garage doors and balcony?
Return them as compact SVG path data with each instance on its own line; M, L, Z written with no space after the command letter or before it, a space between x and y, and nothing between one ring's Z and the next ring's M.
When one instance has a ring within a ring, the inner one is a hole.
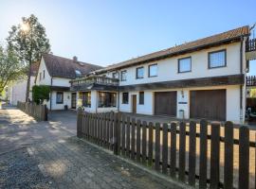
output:
M249 35L249 26L243 26L126 60L72 80L70 89L80 94L88 112L242 123Z

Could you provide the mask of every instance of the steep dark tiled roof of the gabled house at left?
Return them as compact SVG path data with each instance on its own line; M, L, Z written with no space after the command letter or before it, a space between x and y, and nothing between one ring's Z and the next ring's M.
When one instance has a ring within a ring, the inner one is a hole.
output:
M102 67L95 64L85 63L78 60L70 60L52 54L43 54L46 68L51 77L76 78L76 70L86 76L90 72L99 70Z

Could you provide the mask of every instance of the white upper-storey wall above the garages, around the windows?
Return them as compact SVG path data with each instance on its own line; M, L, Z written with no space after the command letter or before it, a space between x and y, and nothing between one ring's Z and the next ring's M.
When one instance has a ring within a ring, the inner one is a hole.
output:
M221 68L208 68L208 53L211 51L226 49L227 50L227 66ZM178 59L192 57L192 72L178 73ZM158 76L148 77L148 65L157 63ZM246 61L244 60L244 68ZM136 78L137 67L144 67L144 78ZM120 81L120 85L132 85L140 83L150 83L167 80L178 80L186 78L198 77L217 77L226 75L240 74L240 43L231 43L218 47L212 47L206 50L188 53L182 56L176 56L166 60L151 61L138 66L128 67L122 70L127 71L127 80ZM120 71L122 71L120 70ZM120 72L119 71L119 72ZM112 77L112 73L108 73L108 77Z

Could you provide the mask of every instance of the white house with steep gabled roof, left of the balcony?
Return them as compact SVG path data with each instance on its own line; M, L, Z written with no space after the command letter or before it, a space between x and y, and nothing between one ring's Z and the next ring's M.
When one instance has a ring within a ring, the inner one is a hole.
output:
M70 93L70 80L86 76L88 73L101 69L101 66L58 57L52 54L44 54L40 61L36 85L50 87L50 99L46 102L49 110L76 109L77 95Z

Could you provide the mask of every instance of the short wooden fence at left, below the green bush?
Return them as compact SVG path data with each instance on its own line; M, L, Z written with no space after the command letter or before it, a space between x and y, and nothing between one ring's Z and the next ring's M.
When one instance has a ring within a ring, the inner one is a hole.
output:
M26 112L28 115L31 115L36 120L47 121L46 105L37 105L34 103L18 101L17 108L22 112Z

